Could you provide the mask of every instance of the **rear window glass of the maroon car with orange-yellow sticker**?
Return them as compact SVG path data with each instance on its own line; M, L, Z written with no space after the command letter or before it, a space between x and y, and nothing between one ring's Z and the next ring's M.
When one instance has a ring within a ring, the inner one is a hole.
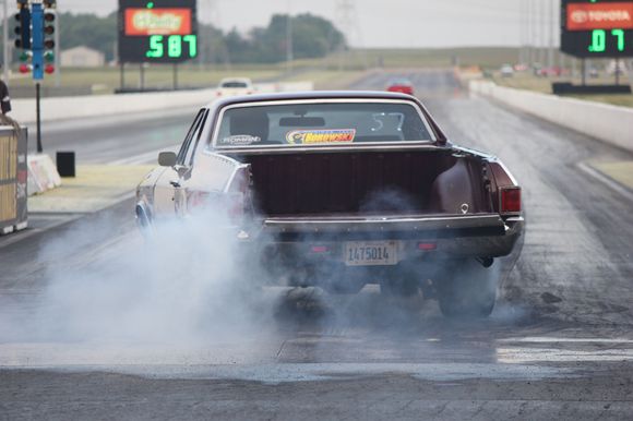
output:
M418 108L407 103L240 106L222 113L216 147L432 142Z

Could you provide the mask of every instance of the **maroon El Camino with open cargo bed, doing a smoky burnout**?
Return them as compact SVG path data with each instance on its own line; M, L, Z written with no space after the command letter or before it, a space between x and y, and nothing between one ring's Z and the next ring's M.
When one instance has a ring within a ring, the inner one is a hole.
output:
M339 293L379 284L437 298L447 316L491 313L494 267L524 229L503 164L451 143L404 94L217 100L159 164L138 188L143 230L219 204L268 279Z

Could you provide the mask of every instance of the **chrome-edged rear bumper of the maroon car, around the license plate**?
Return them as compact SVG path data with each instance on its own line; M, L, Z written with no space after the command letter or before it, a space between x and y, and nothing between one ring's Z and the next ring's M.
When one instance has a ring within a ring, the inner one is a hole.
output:
M499 215L268 218L249 240L276 253L308 258L341 260L346 242L380 240L398 241L401 262L431 254L455 258L500 257L512 252L524 226L521 216L504 219Z

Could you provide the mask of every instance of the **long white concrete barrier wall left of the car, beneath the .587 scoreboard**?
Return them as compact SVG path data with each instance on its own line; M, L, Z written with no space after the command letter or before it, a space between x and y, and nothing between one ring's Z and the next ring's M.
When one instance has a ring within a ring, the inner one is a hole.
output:
M256 85L262 93L312 91L312 82L288 82ZM124 95L95 95L44 98L41 120L58 121L132 112L159 111L184 107L202 107L216 98L216 89L179 91ZM35 122L35 100L12 100L11 117L23 123Z

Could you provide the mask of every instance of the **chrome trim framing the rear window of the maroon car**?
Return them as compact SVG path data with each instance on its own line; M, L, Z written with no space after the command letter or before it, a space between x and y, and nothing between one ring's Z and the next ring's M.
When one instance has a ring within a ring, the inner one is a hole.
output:
M418 145L427 145L430 143L435 143L438 142L438 139L435 137L435 133L433 132L433 129L431 128L431 125L429 124L429 121L427 119L427 117L423 115L422 110L418 107L418 105L414 101L414 100L405 100L405 99L373 99L373 98L341 98L341 99L335 99L335 98L327 98L327 99L284 99L284 100L270 100L270 101L258 101L258 103L240 103L240 104L232 104L226 107L223 107L217 116L217 119L215 120L215 128L213 129L213 134L211 136L211 142L207 143L206 146L206 151L234 151L234 148L231 146L223 146L223 147L217 147L217 135L219 132L219 127L222 125L222 120L224 118L224 113L227 110L234 109L234 108L248 108L248 107L266 107L266 106L283 106L283 105L294 105L294 104L404 104L404 105L408 105L413 108L416 109L416 111L418 112L418 115L420 116L420 119L422 120L422 123L425 124L425 128L427 129L427 132L430 134L431 139L428 141L418 141L418 142L389 142L389 144L411 144L411 143L416 143ZM240 146L238 146L239 148ZM267 146L272 149L277 149L277 148L288 148L288 145L271 145ZM289 146L291 148L291 151L297 151L294 146ZM314 146L318 147L318 146ZM243 149L243 147L242 147ZM252 149L256 149L256 147L252 147L252 148L247 148L248 151L252 151Z

